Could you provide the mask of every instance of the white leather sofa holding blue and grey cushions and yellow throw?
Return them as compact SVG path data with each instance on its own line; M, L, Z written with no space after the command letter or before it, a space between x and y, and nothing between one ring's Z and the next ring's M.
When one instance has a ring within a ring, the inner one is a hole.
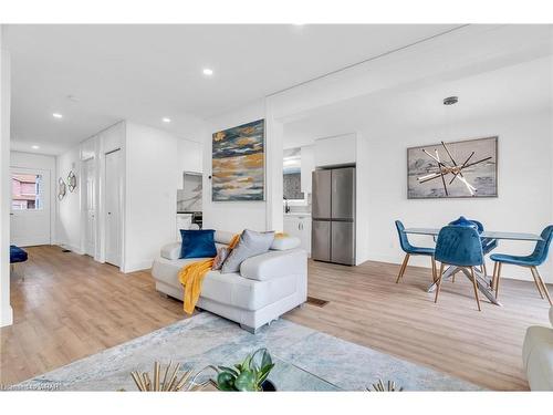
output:
M216 231L216 246L228 246L233 234ZM278 319L307 299L307 253L295 237L275 239L267 253L247 259L240 272L209 271L197 307L236 321L249 332ZM182 300L178 272L201 258L179 259L180 242L167 245L154 261L156 290Z

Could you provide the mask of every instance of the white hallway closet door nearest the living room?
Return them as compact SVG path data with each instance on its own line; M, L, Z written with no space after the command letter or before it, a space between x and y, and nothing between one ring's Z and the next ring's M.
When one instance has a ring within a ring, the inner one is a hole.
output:
M121 267L121 151L105 156L105 261Z

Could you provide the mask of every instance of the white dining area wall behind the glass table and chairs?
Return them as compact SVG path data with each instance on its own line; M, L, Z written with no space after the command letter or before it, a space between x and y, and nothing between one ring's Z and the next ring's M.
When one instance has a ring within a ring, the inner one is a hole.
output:
M487 199L407 199L406 148L437 141L439 127L414 131L401 126L398 114L395 124L365 127L362 134L368 147L358 157L368 163L366 191L368 210L359 211L359 220L368 221L369 239L366 258L399 263L399 248L394 220L406 227L438 227L459 216L482 221L487 229L539 234L553 224L553 165L551 108L524 114L466 121L451 126L440 138L458 141L499 136L499 197ZM431 245L427 237L410 237L416 243ZM361 248L361 247L359 247ZM525 255L532 242L500 242L498 252ZM425 258L414 264L429 267ZM553 261L542 267L546 281L553 282ZM531 279L528 270L504 267L504 277Z

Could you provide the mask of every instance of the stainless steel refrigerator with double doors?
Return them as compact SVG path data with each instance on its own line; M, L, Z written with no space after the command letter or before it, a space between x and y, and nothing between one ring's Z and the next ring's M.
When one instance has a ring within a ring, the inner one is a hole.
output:
M355 167L313 172L311 256L355 264Z

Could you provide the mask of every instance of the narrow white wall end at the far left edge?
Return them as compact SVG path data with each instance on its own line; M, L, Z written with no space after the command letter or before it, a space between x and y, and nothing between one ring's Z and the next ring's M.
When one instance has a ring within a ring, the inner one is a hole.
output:
M10 56L0 25L0 326L13 322L10 305Z

